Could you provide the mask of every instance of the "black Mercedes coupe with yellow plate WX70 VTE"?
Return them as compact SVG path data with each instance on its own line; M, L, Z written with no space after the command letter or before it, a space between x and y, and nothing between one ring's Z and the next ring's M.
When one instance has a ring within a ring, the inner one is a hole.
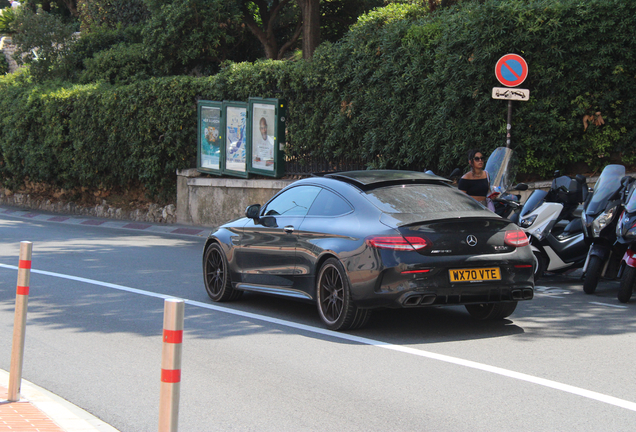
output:
M534 295L526 234L449 185L414 171L367 170L299 180L212 233L203 252L213 301L244 291L315 302L332 330L376 308L465 305L510 316Z

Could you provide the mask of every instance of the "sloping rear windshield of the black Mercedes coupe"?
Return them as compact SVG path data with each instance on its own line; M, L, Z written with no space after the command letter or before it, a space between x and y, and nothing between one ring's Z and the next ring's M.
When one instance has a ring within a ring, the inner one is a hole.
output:
M385 213L444 213L483 210L465 193L445 185L387 186L366 192L367 198Z

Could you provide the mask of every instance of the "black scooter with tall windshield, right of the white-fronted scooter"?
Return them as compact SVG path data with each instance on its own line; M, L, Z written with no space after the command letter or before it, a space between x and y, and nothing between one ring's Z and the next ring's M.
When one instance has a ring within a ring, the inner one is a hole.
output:
M631 177L623 165L607 165L586 200L581 220L586 241L591 244L583 266L583 291L593 294L599 278L614 279L627 245L616 242L616 224L625 202Z

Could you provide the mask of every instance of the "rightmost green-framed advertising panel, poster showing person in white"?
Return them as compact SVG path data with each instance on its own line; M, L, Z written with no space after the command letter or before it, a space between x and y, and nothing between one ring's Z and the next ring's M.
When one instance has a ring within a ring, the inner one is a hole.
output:
M248 153L250 173L281 177L285 173L285 102L249 99Z

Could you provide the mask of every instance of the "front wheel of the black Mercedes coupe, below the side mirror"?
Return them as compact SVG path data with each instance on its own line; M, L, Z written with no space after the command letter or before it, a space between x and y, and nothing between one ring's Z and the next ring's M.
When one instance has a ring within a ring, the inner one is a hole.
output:
M218 243L212 243L203 256L203 281L208 296L216 302L237 300L243 291L232 288L225 253Z

